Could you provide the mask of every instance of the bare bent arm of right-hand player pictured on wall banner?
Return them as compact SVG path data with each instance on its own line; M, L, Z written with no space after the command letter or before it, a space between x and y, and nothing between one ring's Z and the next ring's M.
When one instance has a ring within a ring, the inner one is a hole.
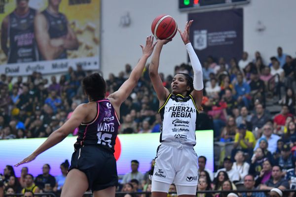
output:
M45 60L54 60L64 52L64 42L63 39L50 40L47 23L43 14L36 15L34 21L35 37L42 57Z

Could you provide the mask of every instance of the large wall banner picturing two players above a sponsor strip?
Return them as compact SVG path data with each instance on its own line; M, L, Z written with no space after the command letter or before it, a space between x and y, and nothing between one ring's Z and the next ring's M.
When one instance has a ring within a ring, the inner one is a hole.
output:
M0 22L0 73L100 68L100 0L0 0Z

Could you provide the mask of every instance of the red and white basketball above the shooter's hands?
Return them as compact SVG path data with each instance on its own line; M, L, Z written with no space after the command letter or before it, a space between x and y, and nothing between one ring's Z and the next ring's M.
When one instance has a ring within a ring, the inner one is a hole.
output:
M151 25L151 31L156 39L172 39L177 33L177 23L169 15L157 16Z

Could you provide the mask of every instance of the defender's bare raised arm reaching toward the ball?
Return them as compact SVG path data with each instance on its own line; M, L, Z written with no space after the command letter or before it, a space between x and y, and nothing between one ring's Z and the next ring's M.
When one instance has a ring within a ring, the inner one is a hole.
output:
M111 103L114 105L116 112L119 112L119 107L121 103L131 94L134 87L137 85L138 80L140 79L143 69L146 65L147 59L153 52L154 46L156 43L153 43L153 36L148 36L146 39L146 45L140 45L143 51L143 55L136 65L136 67L132 70L129 78L120 86L120 88L112 93L108 99L111 100Z

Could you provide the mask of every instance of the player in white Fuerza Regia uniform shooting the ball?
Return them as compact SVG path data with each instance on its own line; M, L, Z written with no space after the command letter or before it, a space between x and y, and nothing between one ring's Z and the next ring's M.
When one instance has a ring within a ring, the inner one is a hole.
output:
M152 197L166 197L171 183L175 183L178 197L195 197L198 183L197 155L193 149L195 122L203 97L202 68L189 41L189 28L179 33L189 54L194 78L179 73L173 78L172 93L163 87L158 75L159 57L164 44L157 40L149 66L149 76L159 99L161 115L160 142L152 175Z

